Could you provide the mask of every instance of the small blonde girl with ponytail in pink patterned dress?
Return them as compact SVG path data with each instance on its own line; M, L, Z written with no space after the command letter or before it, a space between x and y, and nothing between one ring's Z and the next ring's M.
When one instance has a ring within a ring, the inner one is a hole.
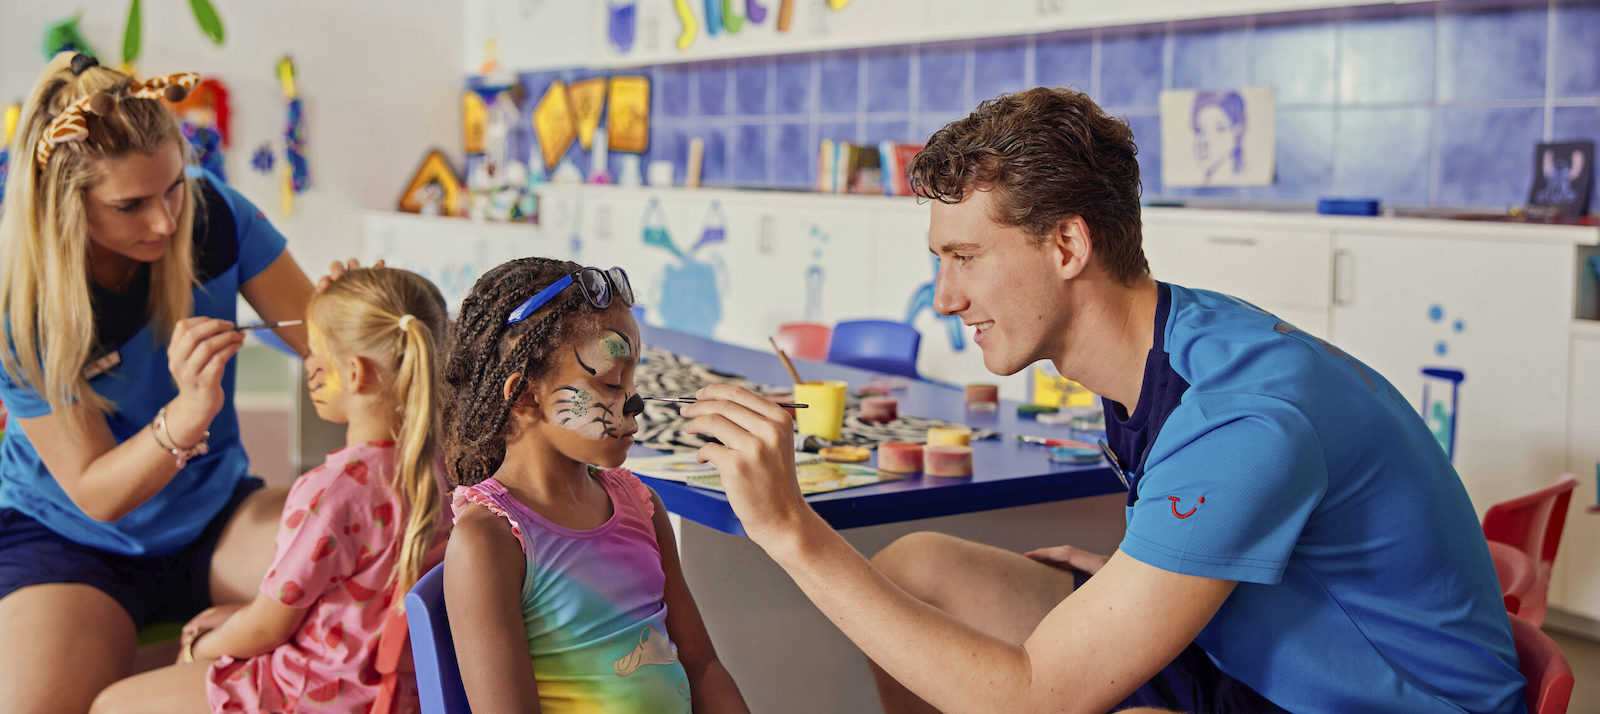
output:
M256 599L184 628L182 663L118 682L94 711L416 711L379 677L390 610L443 557L438 362L445 299L421 275L344 272L312 299L306 386L346 447L290 488Z

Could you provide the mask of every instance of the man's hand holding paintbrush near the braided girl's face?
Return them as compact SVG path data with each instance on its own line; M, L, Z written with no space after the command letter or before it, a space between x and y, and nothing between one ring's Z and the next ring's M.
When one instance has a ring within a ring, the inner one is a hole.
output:
M688 431L722 443L701 447L699 458L717 464L722 487L744 531L762 548L798 533L811 512L795 479L794 421L782 407L742 387L712 384L699 402L683 405Z

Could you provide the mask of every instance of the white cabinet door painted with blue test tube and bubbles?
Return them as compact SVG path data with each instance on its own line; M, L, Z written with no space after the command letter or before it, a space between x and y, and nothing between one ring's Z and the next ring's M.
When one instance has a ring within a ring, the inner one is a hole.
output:
M1424 367L1466 375L1454 464L1480 514L1565 471L1570 243L1339 232L1334 255L1334 344L1419 410Z

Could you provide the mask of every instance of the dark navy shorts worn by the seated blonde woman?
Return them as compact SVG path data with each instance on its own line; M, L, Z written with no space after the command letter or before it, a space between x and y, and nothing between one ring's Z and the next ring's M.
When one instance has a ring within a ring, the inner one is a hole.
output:
M82 583L106 592L134 628L187 621L211 607L211 552L227 520L264 483L240 479L234 496L192 543L165 556L118 556L69 541L30 515L0 509L0 599L27 586Z

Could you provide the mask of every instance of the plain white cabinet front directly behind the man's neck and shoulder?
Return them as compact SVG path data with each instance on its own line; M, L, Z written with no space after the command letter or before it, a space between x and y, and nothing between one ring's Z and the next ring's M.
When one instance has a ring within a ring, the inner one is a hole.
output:
M1214 290L1328 335L1328 231L1146 221L1144 256L1157 280Z

